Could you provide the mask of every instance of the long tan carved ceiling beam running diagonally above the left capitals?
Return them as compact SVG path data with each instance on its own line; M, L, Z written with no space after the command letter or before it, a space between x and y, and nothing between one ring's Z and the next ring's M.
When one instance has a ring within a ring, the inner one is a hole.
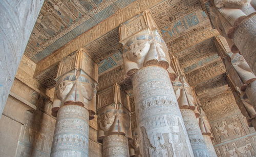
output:
M54 52L52 55L38 62L34 76L36 77L37 75L44 73L49 67L56 64L56 62L59 62L61 59L68 56L72 52L86 46L87 44L96 40L100 36L115 29L124 21L134 17L135 15L139 14L140 12L148 8L155 6L161 1L162 0L138 0L132 3L120 12L105 19L89 31L84 32L80 36L71 40L69 43L67 43L65 46Z

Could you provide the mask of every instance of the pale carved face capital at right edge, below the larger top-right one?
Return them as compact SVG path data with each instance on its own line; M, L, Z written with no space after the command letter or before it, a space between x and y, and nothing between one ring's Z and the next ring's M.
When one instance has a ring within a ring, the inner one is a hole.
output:
M254 80L256 80L256 77L251 71L250 66L245 61L242 55L237 53L237 54L231 54L230 57L231 57L231 63L234 69L237 71L238 75L241 77L242 81L245 84L249 84Z

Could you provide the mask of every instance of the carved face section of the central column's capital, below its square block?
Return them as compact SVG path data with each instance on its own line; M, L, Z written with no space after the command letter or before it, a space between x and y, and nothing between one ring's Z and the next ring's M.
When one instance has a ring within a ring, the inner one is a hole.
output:
M157 30L141 31L134 35L126 41L123 52L125 72L128 76L148 65L169 68L168 48ZM169 68L168 71L172 70Z

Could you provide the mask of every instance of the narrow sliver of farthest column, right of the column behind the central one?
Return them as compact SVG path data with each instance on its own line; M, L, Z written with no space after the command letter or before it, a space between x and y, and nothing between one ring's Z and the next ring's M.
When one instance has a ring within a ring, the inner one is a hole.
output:
M204 138L205 144L207 146L209 156L217 157L216 151L214 149L214 145L212 145L212 142L211 142L211 140L213 140L213 137L211 136L210 124L208 122L208 119L207 119L203 109L200 108L200 110L201 110L201 115L199 117L199 126L200 126L201 132L203 134L203 138Z

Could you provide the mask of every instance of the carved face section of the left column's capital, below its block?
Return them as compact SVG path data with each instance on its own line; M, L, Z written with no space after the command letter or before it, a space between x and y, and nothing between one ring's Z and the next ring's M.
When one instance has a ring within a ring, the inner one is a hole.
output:
M88 102L93 99L95 85L90 77L82 71L73 70L56 79L52 115L56 116L63 105L76 104L89 108Z

